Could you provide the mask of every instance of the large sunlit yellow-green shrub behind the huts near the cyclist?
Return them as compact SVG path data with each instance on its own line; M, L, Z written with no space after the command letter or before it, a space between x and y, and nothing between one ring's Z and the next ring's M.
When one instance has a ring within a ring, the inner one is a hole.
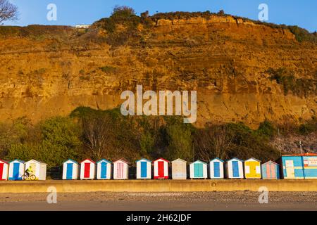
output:
M68 117L54 117L44 120L36 127L27 129L20 142L8 148L8 160L37 159L49 165L61 165L64 160L80 159L80 127Z

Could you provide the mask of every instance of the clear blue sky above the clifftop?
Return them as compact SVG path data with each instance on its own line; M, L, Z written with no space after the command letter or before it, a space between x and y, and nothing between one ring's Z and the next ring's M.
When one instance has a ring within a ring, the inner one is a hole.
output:
M268 5L268 22L298 25L310 32L317 30L316 0L11 0L18 6L20 20L5 25L25 26L91 24L108 17L116 5L131 6L137 14L149 10L152 15L170 11L211 11L258 19L259 4ZM46 20L48 4L56 4L57 20Z

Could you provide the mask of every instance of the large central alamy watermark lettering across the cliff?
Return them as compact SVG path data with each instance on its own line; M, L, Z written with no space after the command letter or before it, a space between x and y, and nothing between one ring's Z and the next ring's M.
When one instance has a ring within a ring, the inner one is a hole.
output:
M184 123L197 120L197 91L190 91L189 101L189 91L143 93L143 86L137 85L136 95L132 91L123 91L120 98L125 100L121 105L122 115L182 115Z

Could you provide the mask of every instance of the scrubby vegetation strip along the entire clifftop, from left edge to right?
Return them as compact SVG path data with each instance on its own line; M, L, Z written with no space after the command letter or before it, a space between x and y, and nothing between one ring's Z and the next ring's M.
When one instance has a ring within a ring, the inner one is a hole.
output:
M169 12L156 13L149 15L146 11L140 16L136 15L135 10L128 6L116 6L109 18L102 18L96 21L89 30L78 31L73 27L68 26L48 26L48 25L29 25L27 27L17 26L0 26L0 37L30 37L32 39L46 39L46 38L65 38L69 37L85 37L86 39L94 39L94 41L106 41L112 46L120 46L126 44L127 41L134 43L137 38L142 38L142 32L138 30L139 25L147 30L154 27L158 20L175 20L175 19L189 19L189 18L206 18L211 16L232 16L235 20L249 21L256 24L266 25L272 28L279 28L290 30L297 39L297 41L311 41L317 43L317 33L310 33L307 30L297 26L276 25L273 23L265 23L259 20L250 20L236 15L228 15L223 10L218 13L210 11L204 12ZM98 34L95 30L103 29L108 32L105 39L96 39Z

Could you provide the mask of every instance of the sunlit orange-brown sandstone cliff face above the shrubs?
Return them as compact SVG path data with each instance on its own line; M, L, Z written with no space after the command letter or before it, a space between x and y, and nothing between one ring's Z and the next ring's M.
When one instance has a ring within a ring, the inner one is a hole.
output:
M266 119L316 116L317 46L299 43L288 30L213 16L162 19L138 32L132 44L116 48L94 40L106 32L0 37L0 121L27 116L37 122L82 105L114 108L121 92L137 84L197 90L197 126L241 121L256 127ZM285 68L310 86L304 94L294 86L285 93L269 68Z

